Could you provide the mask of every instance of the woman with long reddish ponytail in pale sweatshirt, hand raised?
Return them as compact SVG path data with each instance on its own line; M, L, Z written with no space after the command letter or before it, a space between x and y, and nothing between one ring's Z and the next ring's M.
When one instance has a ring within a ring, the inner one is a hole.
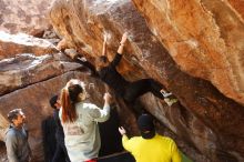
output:
M111 95L104 93L103 109L87 101L84 83L70 80L61 91L60 119L71 162L96 162L101 146L98 122L110 117Z

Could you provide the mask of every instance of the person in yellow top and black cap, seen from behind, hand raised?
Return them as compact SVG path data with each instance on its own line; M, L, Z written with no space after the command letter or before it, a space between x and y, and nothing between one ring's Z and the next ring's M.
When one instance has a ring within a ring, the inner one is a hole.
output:
M119 128L122 143L131 152L136 162L181 162L181 155L175 142L155 132L153 119L150 114L142 114L138 119L141 136L129 139L124 128Z

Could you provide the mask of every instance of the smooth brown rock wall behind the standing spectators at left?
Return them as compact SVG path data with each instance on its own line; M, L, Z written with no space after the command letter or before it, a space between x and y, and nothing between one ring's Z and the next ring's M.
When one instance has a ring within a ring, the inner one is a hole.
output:
M94 87L99 87L99 90L91 89L88 92L92 93L92 97L95 98L93 100L102 107L102 94L104 92L104 85L102 85L102 82L98 82L93 78L77 72L68 72L63 75L29 85L24 89L16 90L14 92L0 98L0 113L2 115L6 117L6 114L14 108L22 108L26 112L30 131L29 142L31 144L31 150L33 151L33 160L37 162L43 161L41 123L45 117L52 114L49 99L52 95L58 94L72 78L80 78L87 83L92 82L94 83ZM6 130L6 123L7 121L4 118L1 120L0 132ZM3 134L1 134L0 140L3 140Z

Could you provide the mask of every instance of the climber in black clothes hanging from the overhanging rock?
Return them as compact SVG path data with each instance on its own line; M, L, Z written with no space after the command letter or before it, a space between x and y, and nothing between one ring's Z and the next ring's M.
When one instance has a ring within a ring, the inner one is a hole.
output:
M133 103L140 95L152 92L155 97L164 99L164 101L172 105L177 100L169 99L172 95L171 92L166 92L164 87L153 79L141 79L138 81L125 80L118 71L116 65L120 63L124 44L128 40L128 34L124 33L118 52L114 59L110 62L106 58L106 37L103 42L102 55L98 58L96 71L100 79L105 82L109 87L115 90L115 93L124 99L126 103Z

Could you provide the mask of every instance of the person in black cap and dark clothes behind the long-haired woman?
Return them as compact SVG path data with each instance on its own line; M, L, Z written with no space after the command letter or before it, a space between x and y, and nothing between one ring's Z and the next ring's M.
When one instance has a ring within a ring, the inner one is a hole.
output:
M59 97L58 95L52 97L49 102L50 102L50 105L54 109L53 118L55 122L55 140L57 140L57 148L55 148L55 153L53 155L52 162L61 162L64 159L65 159L65 162L70 162L67 148L64 144L63 128L59 119L59 110L61 107Z

